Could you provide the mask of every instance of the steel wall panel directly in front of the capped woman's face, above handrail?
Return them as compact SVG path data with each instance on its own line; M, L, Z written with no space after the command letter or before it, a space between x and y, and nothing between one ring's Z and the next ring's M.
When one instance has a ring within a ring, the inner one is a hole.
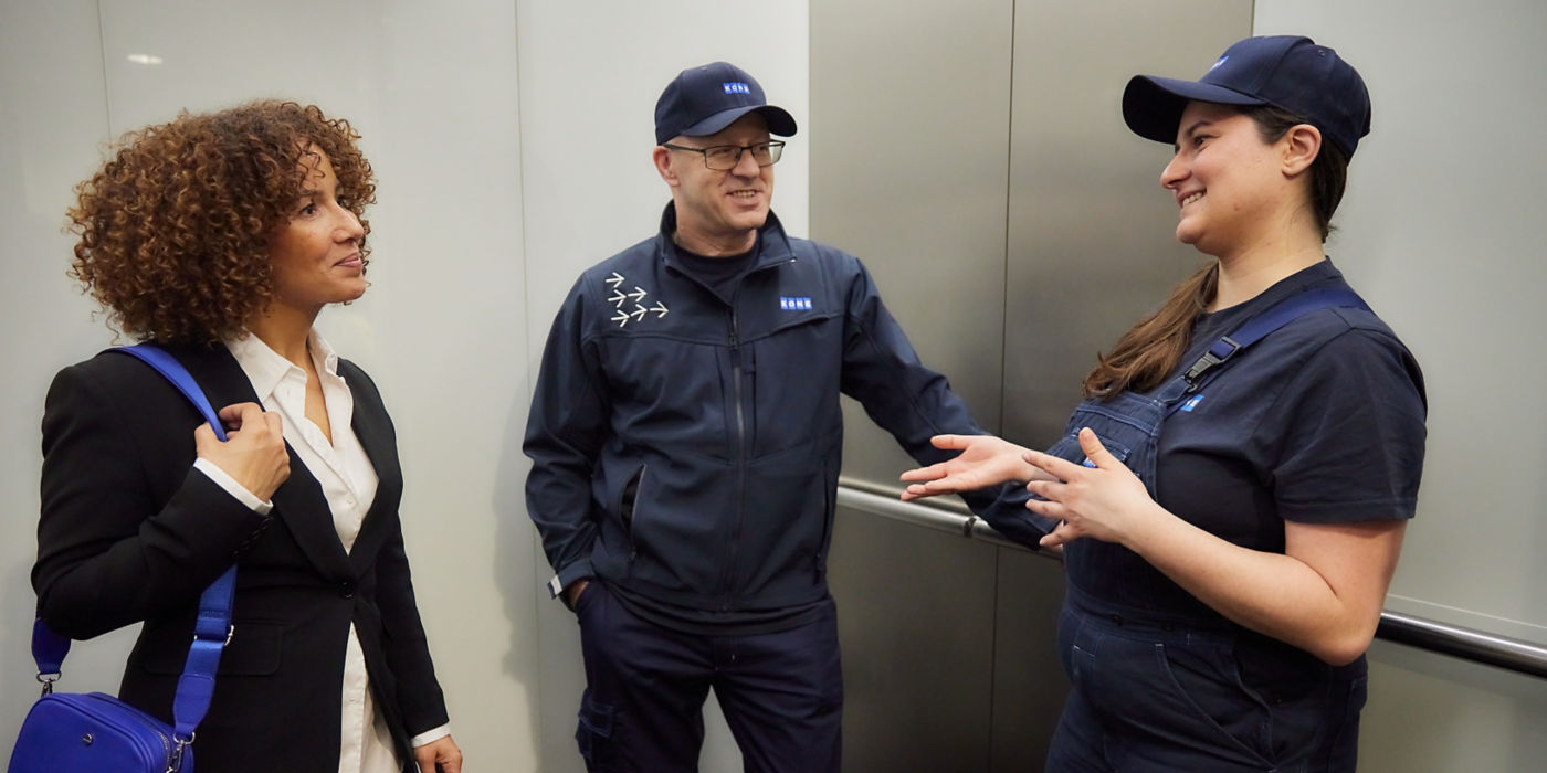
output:
M1242 0L1016 5L1007 438L1050 445L1095 352L1204 263L1173 238L1171 150L1128 130L1123 87L1139 73L1199 77L1248 34Z

